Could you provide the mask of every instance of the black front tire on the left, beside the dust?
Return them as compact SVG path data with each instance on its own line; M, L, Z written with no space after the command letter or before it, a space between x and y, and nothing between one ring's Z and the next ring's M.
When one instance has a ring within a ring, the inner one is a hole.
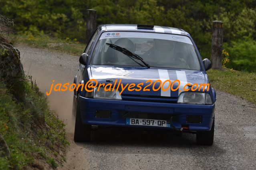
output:
M77 97L77 111L76 111L76 122L74 141L75 142L88 142L91 140L91 125L85 125L82 123L80 107L79 107L79 96Z

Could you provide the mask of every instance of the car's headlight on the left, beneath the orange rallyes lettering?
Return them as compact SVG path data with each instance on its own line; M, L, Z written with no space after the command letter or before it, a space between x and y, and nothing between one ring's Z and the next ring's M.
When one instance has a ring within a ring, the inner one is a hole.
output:
M121 95L119 95L119 91L105 91L104 88L98 87L94 88L94 95L93 98L96 99L114 99L114 100L122 100Z

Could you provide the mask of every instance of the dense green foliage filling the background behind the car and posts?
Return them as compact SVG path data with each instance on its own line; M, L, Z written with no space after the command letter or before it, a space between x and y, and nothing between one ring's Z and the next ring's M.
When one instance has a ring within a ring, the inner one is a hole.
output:
M214 20L224 22L224 42L228 46L244 41L245 37L256 40L255 6L255 0L6 0L1 2L0 11L14 18L19 32L77 38L80 42L85 40L89 8L97 10L98 25L154 24L181 28L191 34L202 57L210 58Z

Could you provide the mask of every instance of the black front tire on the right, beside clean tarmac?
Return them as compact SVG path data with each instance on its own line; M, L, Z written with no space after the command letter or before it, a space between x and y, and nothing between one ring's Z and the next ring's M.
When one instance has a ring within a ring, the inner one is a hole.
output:
M208 132L198 132L196 134L196 143L204 146L212 146L214 142L214 121L212 129Z

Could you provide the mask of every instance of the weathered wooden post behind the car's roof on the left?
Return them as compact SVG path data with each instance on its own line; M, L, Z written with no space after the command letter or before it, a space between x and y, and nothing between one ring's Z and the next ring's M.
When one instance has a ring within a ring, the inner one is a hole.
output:
M85 42L88 43L93 32L97 27L97 11L96 10L87 10L87 18L86 18L86 37Z

